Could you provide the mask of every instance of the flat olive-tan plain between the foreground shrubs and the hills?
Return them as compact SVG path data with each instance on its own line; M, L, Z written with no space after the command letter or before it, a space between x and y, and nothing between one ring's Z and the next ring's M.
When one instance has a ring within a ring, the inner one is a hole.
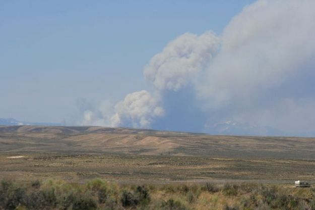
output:
M81 182L315 182L315 161L131 154L0 154L0 179L57 178Z

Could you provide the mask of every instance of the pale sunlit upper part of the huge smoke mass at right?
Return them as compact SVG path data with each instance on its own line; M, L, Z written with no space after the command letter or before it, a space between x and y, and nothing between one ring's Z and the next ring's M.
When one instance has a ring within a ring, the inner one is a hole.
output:
M225 28L200 95L217 101L279 86L315 53L314 1L261 0Z

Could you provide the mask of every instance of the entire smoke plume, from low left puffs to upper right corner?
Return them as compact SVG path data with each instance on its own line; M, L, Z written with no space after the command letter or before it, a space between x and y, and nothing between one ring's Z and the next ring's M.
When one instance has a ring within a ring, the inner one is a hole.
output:
M183 129L203 132L234 120L315 134L314 8L312 0L259 0L221 36L184 33L144 68L154 94L128 94L111 114L89 110L85 118L170 130L191 121L199 128Z

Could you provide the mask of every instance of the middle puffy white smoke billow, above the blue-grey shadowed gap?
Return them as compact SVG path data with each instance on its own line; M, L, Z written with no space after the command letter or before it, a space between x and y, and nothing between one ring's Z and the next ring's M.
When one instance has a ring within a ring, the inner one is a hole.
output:
M217 53L220 39L211 31L185 33L166 45L144 69L146 79L159 90L177 91L190 84Z

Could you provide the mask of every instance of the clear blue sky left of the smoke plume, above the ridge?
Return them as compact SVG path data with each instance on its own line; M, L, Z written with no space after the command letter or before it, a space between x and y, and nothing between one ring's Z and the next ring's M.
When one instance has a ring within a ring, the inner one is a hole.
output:
M225 25L251 1L1 1L0 117L61 122L77 98L144 89L173 38ZM147 87L150 88L150 87Z

